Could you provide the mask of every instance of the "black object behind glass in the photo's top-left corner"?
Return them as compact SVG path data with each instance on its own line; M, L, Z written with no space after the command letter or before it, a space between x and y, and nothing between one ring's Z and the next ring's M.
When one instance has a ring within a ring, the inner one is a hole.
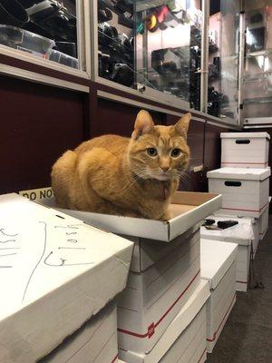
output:
M0 0L0 24L23 27L29 21L24 7L16 0Z

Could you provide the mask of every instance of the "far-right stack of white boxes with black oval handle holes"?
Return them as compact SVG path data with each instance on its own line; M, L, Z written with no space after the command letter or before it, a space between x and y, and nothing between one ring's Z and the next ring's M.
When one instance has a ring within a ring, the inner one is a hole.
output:
M255 218L262 239L268 224L270 135L223 132L221 140L221 169L207 173L209 191L223 196L217 214Z

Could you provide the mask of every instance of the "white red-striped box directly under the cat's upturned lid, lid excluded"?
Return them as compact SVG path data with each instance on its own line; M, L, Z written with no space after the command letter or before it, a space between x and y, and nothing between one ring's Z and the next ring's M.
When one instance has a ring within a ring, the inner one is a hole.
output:
M180 237L167 245L168 254L160 260L149 261L141 272L130 272L118 299L120 348L148 353L199 285L199 229L187 239ZM158 242L151 243L150 252L157 247Z

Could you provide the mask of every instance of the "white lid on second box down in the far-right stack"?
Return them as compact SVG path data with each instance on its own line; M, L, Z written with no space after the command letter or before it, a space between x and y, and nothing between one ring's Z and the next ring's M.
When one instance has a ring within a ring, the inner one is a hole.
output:
M264 169L220 168L207 172L207 177L211 179L233 179L242 181L264 181L270 175L270 167Z

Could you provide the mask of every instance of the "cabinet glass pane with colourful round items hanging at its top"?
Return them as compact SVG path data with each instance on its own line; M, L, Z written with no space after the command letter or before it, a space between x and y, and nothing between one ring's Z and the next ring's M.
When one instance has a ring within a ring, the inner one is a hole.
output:
M136 82L199 110L200 1L137 1Z

